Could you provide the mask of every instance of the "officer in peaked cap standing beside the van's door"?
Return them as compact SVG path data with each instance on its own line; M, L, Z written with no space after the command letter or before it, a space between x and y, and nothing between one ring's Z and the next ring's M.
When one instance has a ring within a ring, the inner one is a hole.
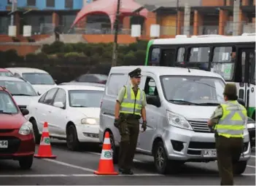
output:
M136 68L128 75L131 77L131 84L120 89L115 105L114 125L119 129L121 136L118 160L121 174L133 174L131 166L136 151L141 117L143 120L141 128L143 131L147 129L146 96L138 87L141 81L141 69Z

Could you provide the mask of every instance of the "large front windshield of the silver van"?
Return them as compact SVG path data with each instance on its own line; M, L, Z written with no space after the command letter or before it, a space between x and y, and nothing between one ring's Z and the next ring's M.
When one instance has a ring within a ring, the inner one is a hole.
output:
M224 102L225 82L204 76L160 76L168 102L179 105L219 105Z

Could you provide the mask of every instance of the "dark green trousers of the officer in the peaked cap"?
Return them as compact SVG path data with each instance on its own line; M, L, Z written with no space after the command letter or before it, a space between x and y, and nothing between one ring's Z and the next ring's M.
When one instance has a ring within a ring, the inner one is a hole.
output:
M139 119L128 119L120 124L121 135L118 166L120 169L131 169L139 137Z

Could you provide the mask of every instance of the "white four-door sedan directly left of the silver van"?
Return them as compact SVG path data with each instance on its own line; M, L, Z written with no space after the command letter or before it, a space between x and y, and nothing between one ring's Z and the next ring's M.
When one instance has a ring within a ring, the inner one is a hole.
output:
M39 143L44 122L50 137L66 140L70 150L78 150L81 142L99 143L99 114L104 88L98 86L62 85L42 94L28 105L26 117L34 127Z

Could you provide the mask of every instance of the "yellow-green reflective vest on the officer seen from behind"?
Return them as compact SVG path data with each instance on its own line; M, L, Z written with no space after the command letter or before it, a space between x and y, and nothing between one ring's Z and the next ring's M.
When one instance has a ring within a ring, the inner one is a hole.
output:
M244 138L244 125L247 122L247 110L237 101L221 104L223 114L215 129L223 137Z

